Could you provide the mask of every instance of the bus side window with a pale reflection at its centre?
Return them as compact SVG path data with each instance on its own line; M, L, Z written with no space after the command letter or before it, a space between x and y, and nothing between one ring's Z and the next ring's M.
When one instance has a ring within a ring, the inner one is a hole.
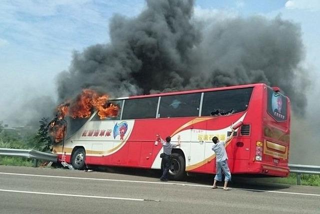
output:
M201 93L162 96L158 116L193 117L199 114Z

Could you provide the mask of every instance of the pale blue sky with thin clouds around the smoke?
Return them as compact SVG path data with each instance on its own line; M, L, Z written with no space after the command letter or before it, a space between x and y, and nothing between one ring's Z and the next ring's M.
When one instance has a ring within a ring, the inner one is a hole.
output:
M134 17L145 6L144 0L1 0L0 121L19 125L13 113L21 111L21 106L38 99L56 102L57 75L69 69L73 52L110 42L109 21L113 14ZM311 79L307 111L316 112L306 114L305 119L320 116L314 98L320 95L319 0L195 0L195 17L213 15L280 16L299 24L305 46L301 66ZM26 117L34 111L38 109L18 115ZM312 135L308 130L304 133Z

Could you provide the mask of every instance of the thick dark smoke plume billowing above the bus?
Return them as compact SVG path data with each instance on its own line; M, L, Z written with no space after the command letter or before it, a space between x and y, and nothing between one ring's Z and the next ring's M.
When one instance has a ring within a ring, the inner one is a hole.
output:
M147 0L136 17L114 15L110 42L74 52L58 76L60 100L82 88L114 97L264 82L279 86L303 114L307 72L300 27L272 20L199 20L193 0Z

